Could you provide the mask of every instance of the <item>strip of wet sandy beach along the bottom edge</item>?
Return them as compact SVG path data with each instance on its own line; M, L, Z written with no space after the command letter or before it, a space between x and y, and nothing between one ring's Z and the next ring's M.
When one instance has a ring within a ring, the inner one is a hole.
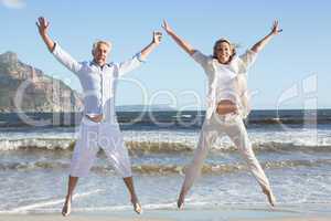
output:
M137 215L132 211L114 212L73 212L70 217L62 217L61 213L26 213L26 214L0 214L0 221L329 221L331 212L328 206L307 207L279 207L267 209L266 207L250 208L213 208L184 210L145 210L143 214ZM320 208L320 210L317 210Z

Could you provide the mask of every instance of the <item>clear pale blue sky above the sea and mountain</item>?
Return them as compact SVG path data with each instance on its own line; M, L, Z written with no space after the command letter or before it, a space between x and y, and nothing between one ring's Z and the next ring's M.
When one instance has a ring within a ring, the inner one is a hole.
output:
M243 53L278 19L284 32L259 54L249 72L253 107L330 108L331 3L328 1L38 1L0 0L0 53L19 59L81 91L74 74L58 64L41 41L35 20L51 21L50 35L78 61L90 59L96 39L110 40L110 60L132 56L161 30L162 19L194 48L210 54L222 36ZM169 104L203 108L203 70L167 35L146 64L119 83L117 105ZM140 86L143 86L146 96ZM196 102L199 101L199 102Z

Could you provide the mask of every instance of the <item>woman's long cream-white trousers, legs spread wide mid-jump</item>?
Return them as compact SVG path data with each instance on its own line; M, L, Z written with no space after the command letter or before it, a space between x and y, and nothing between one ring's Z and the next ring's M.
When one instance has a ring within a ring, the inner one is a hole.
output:
M237 114L221 116L215 113L210 119L205 119L202 126L193 161L185 171L185 180L183 183L184 192L190 190L194 180L200 176L209 148L214 144L217 137L224 134L227 135L238 148L259 186L270 190L269 181L252 149L252 144L242 117Z

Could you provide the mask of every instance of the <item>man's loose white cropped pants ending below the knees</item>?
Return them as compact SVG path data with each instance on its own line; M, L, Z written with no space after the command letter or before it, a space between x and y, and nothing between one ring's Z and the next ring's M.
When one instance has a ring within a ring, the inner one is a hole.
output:
M131 164L118 124L95 123L83 117L70 175L86 177L102 148L121 177L131 177Z

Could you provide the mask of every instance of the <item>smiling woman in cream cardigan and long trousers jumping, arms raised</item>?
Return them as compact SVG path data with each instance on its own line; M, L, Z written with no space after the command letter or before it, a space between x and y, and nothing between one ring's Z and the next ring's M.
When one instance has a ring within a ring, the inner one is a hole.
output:
M269 181L253 152L243 118L249 113L246 92L247 70L256 60L257 53L261 51L273 36L282 31L278 28L278 21L275 21L269 34L242 56L236 55L234 45L226 39L216 41L213 55L206 56L181 39L167 21L163 22L162 28L178 45L204 69L209 78L206 117L202 126L194 159L185 172L185 179L178 199L178 208L182 208L185 194L199 177L209 147L223 133L239 149L241 155L246 160L263 192L274 207L276 199Z

